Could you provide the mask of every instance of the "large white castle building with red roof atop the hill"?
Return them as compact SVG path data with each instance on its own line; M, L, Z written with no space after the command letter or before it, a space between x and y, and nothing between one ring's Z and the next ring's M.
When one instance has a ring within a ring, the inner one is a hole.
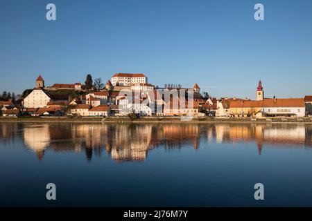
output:
M144 74L116 73L112 76L113 86L131 86L132 84L146 84L148 81Z

